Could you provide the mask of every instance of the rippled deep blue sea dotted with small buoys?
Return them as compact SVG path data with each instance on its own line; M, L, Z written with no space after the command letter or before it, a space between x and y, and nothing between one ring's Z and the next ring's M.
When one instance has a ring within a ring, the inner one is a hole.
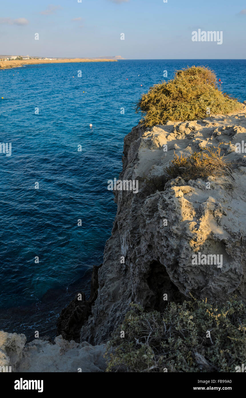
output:
M122 170L124 136L140 119L134 105L150 86L192 65L209 66L225 92L246 100L246 60L1 70L0 142L11 142L12 154L0 154L0 308L37 304L102 262L116 215L107 181Z

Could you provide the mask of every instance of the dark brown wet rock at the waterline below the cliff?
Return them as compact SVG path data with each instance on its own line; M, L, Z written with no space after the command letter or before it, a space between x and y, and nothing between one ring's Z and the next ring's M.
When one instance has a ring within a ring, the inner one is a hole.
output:
M102 266L93 265L91 275L91 293L88 300L86 300L83 292L76 293L74 300L61 311L57 322L57 336L60 334L68 341L74 340L77 343L80 341L80 331L83 324L91 315L91 306L93 306L97 298L98 285L98 271Z

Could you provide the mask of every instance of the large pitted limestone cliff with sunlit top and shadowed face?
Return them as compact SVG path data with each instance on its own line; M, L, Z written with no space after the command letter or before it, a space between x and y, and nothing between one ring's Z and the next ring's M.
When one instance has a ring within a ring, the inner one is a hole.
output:
M168 302L182 301L190 293L213 302L244 295L246 156L234 150L242 140L246 142L245 106L234 115L168 122L147 130L138 125L125 137L120 180L161 176L174 150L179 156L190 155L220 142L232 176L188 182L177 177L148 195L140 182L136 194L116 191L118 209L99 271L98 297L81 329L81 341L98 344L108 339L131 302L163 311L165 293ZM223 266L193 264L192 255L199 252L222 255Z

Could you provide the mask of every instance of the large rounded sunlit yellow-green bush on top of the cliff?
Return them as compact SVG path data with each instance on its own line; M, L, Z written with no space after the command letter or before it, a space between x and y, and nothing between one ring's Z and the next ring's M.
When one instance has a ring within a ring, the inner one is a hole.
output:
M170 121L196 120L212 114L230 113L242 109L242 103L217 86L213 71L204 66L178 70L174 79L155 84L142 94L136 105L141 122L146 126L164 125Z

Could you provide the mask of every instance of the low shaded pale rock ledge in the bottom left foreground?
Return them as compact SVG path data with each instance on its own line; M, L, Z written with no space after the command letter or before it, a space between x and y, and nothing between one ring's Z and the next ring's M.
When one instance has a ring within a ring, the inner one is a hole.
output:
M35 339L25 345L25 335L0 331L0 366L12 372L104 372L105 345Z

